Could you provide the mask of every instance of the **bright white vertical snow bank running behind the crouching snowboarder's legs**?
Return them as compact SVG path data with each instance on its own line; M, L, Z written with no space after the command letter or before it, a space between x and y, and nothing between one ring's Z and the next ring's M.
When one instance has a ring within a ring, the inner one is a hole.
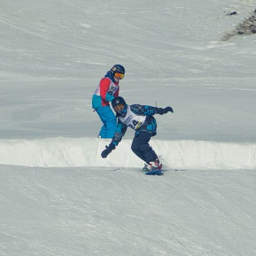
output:
M0 164L70 167L141 167L143 161L130 150L131 140L122 140L108 158L101 151L108 140L98 138L41 138L0 140ZM151 140L166 168L256 169L256 144L193 140Z

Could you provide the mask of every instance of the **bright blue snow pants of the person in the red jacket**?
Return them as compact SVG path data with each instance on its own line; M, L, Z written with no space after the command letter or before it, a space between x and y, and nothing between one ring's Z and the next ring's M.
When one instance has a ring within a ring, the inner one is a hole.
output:
M110 106L100 106L95 108L95 110L103 123L99 135L102 138L112 138L116 131L116 117Z

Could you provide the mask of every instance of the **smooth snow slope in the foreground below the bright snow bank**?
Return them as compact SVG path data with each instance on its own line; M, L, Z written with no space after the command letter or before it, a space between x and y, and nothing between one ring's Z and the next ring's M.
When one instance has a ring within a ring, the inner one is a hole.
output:
M255 255L255 170L0 175L1 255Z

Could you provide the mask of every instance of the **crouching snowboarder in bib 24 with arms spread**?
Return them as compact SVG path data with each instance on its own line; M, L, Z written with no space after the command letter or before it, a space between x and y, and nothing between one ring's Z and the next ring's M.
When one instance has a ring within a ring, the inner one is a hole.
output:
M116 112L118 125L111 143L102 151L101 157L106 158L112 150L115 150L129 126L136 131L131 150L145 162L144 171L161 169L162 163L159 162L157 154L149 144L150 138L157 134L157 121L153 115L173 113L173 109L170 106L157 108L139 104L127 105L122 97L114 98L111 105Z

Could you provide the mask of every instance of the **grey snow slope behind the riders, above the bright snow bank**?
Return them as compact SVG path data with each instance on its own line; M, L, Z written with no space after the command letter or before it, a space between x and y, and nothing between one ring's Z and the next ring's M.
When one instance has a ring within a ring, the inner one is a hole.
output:
M96 137L91 94L122 63L129 104L175 111L157 116L158 138L255 142L255 35L219 41L254 5L2 1L1 138Z

